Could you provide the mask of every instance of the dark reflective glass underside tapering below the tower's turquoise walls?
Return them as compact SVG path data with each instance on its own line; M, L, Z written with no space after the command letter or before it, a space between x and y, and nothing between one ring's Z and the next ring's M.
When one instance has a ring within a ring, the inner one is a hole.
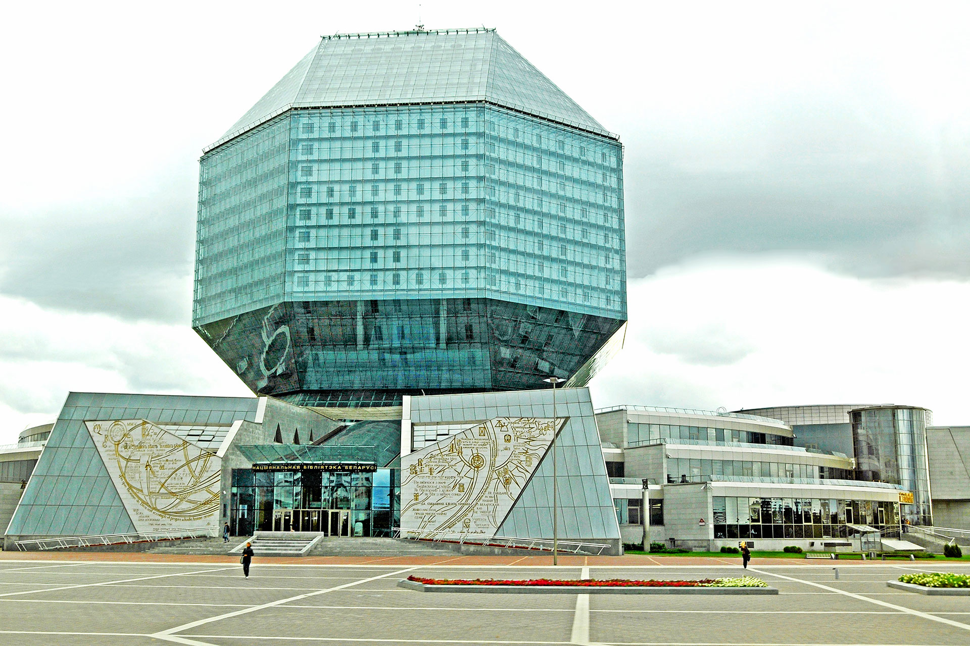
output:
M197 330L253 390L509 390L566 378L621 323L486 298L298 301ZM323 405L316 396L294 403ZM397 402L400 404L400 401Z

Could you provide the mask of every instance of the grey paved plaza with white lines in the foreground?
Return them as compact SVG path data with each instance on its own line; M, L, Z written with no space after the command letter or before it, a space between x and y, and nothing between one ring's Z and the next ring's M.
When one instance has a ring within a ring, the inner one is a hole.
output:
M970 643L966 597L931 598L886 585L907 571L970 572L954 563L776 560L750 572L777 587L778 596L693 597L430 594L396 584L412 573L705 578L743 570L727 559L574 558L553 569L544 565L548 557L443 554L436 562L343 565L256 559L246 580L225 557L2 557L0 644L18 646Z

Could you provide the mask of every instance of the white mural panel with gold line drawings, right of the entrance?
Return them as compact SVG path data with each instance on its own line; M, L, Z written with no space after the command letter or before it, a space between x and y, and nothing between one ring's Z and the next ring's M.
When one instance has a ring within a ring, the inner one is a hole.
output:
M405 455L401 527L419 538L495 536L552 444L553 429L551 418L496 417Z

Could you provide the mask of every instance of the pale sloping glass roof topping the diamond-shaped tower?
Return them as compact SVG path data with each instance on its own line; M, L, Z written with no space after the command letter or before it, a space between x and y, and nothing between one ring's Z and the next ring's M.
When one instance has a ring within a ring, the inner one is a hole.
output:
M206 151L289 108L488 102L608 133L495 29L324 36Z

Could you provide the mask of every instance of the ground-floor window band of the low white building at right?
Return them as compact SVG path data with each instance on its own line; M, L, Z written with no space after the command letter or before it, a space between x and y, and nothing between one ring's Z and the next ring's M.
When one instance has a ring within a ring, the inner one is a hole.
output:
M898 503L735 496L711 501L714 538L847 538L848 524L899 528Z

